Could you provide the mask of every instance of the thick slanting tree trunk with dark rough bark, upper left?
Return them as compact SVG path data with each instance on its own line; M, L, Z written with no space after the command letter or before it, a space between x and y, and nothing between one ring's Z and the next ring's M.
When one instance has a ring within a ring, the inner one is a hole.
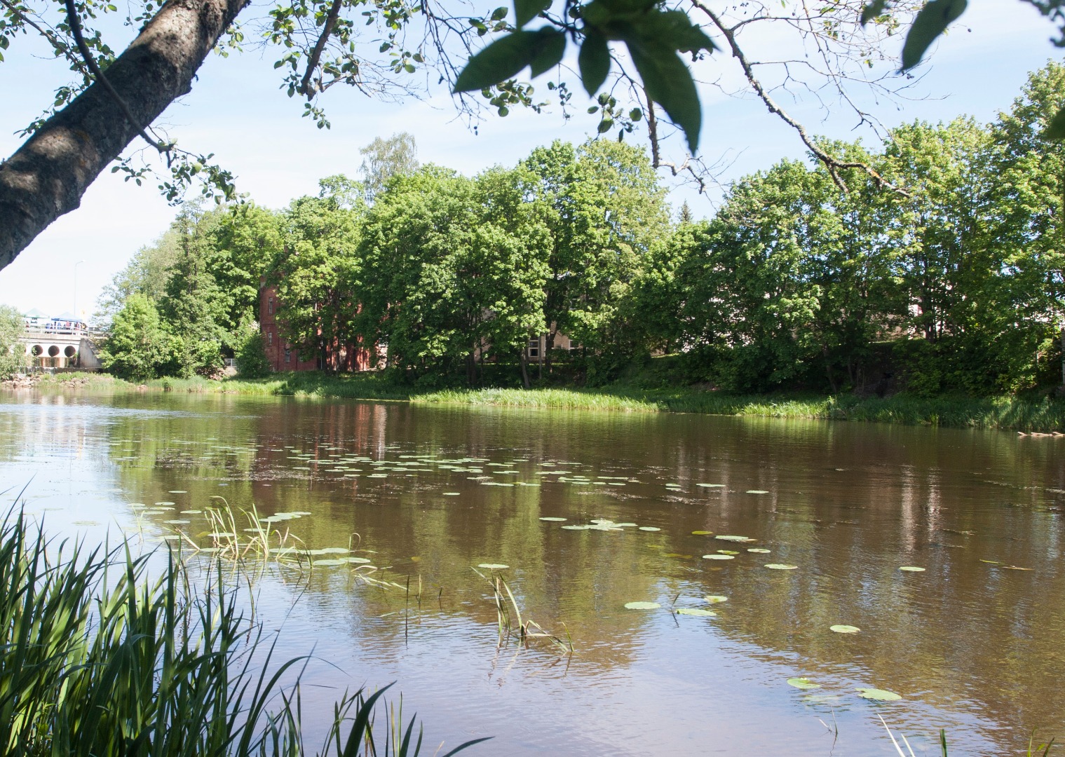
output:
M122 104L94 83L0 164L0 268L53 220L81 204L97 176L192 80L246 0L169 0L104 77Z

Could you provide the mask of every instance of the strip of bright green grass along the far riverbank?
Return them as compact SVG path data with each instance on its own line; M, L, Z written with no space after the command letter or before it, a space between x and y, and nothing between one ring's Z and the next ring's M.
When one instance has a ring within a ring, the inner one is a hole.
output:
M263 379L153 379L134 384L103 374L46 376L38 389L87 391L162 391L192 394L292 396L309 398L408 401L414 405L673 412L748 417L858 421L950 428L998 429L1026 433L1065 431L1065 399L1050 397L862 397L854 394L780 393L739 395L694 388L634 389L465 389L419 391L383 374L276 374Z

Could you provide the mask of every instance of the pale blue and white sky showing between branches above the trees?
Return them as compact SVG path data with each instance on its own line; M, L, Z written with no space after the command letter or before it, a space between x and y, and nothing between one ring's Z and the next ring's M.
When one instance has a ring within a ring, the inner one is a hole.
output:
M1061 60L1061 50L1050 43L1053 32L1027 3L971 0L961 21L919 69L922 78L912 93L917 99L874 98L862 90L856 90L857 97L888 128L916 119L950 120L962 114L989 121L1009 109L1030 71L1049 59ZM120 49L126 32L114 29L109 33L113 34L109 37L112 47ZM901 42L898 38L896 44L901 46ZM744 40L756 52L769 54L774 46L786 44L773 37ZM16 39L5 59L0 63L0 158L18 148L22 138L15 132L48 105L69 73L32 38ZM554 139L584 142L594 134L597 124L595 116L585 116L584 93L574 95L574 116L569 121L557 109L540 115L513 109L506 118L489 115L474 133L457 117L446 94L390 103L337 87L324 98L332 128L318 130L300 117L302 104L278 89L280 77L272 60L268 53L263 56L256 51L210 56L192 93L160 119L180 146L214 152L215 160L236 175L237 190L269 208L316 194L317 181L325 176L358 176L359 148L377 136L410 132L422 163L473 175L492 165L513 165L532 148ZM738 87L741 81L738 66L722 52L715 53L702 71L720 76L726 89ZM535 83L542 88L541 80ZM794 132L753 95L733 97L704 85L700 96L704 114L700 153L707 163L720 161L725 166L719 177L722 182L805 154ZM793 92L776 96L814 133L879 144L873 132L855 128L852 112L835 103L825 111ZM630 137L639 141L640 135ZM668 172L663 171L662 182L673 186ZM670 201L674 208L687 201L697 217L710 216L720 196L720 190L701 196L678 186L671 188ZM138 248L166 230L176 212L155 191L154 182L137 187L124 182L120 175L104 171L85 193L81 208L53 223L0 270L0 303L22 312L37 308L50 315L67 311L91 315L102 287Z

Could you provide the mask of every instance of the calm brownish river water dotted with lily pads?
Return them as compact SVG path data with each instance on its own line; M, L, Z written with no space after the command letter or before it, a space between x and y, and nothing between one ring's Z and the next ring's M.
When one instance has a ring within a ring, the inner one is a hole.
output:
M210 546L217 497L307 513L275 525L337 553L253 580L278 654L313 653L305 718L397 681L429 754L896 754L879 717L917 754L940 728L951 755L1065 738L1065 440L24 392L0 395L0 471L5 503L91 541ZM559 643L501 643L474 567Z

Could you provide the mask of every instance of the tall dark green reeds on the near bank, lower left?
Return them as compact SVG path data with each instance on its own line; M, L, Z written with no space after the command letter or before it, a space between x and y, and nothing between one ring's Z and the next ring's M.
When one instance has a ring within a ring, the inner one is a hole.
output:
M301 658L268 672L273 644L220 574L194 588L171 557L149 579L147 558L126 545L54 546L9 513L0 522L3 754L308 754L298 682L281 686ZM345 694L318 754L419 754L414 719L387 727L380 751L375 744L383 691Z

